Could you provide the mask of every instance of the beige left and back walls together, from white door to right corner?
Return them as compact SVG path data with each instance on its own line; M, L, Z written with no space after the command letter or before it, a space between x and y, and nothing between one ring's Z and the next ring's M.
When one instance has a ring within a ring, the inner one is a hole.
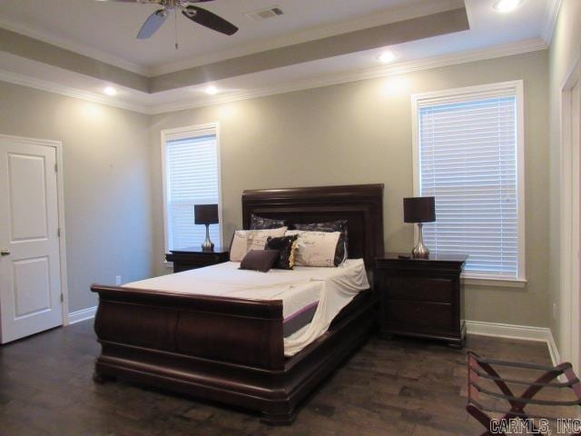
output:
M412 226L401 222L401 198L413 183L410 94L523 79L529 282L523 290L469 288L467 318L547 326L547 64L543 51L153 117L0 83L0 134L64 144L68 287L76 311L95 304L91 282L165 271L162 129L220 122L226 240L241 226L244 189L384 183L385 246L405 251L413 240Z

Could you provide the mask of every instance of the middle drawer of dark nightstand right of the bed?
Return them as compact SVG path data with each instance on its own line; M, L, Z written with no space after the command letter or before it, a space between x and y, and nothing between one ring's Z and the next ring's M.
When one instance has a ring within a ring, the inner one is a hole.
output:
M388 298L420 302L452 302L454 283L448 279L425 277L389 277Z

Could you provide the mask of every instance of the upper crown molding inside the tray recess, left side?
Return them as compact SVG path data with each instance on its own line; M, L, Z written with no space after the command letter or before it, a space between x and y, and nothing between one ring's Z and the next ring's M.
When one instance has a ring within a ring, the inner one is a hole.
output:
M148 68L142 65L133 64L133 62L127 61L121 57L105 53L87 45L75 43L74 41L67 38L58 37L48 32L39 31L20 23L17 24L14 21L8 21L2 16L0 16L0 27L5 28L6 30L10 30L11 32L15 32L16 34L29 36L39 41L43 41L44 43L48 43L50 45L56 45L57 47L70 50L77 54L83 54L84 56L91 57L106 64L112 64L119 68L123 68L124 70L131 71L135 74L146 75L148 72Z

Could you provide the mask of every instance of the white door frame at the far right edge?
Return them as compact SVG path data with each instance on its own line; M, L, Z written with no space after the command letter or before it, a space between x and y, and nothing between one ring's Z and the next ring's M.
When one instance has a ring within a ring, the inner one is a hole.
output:
M559 348L563 361L570 361L576 371L581 365L581 272L579 271L579 236L581 223L581 147L573 144L573 90L581 84L581 57L577 57L573 67L566 74L560 93L560 191L561 229L560 229L560 301L559 301Z

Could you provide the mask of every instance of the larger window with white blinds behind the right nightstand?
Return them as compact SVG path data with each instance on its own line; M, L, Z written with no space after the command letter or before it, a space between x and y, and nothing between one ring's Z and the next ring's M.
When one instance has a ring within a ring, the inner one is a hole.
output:
M467 253L464 275L524 282L522 82L417 94L415 194L436 197L424 239Z

